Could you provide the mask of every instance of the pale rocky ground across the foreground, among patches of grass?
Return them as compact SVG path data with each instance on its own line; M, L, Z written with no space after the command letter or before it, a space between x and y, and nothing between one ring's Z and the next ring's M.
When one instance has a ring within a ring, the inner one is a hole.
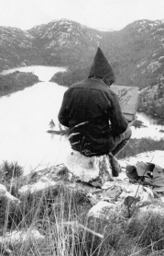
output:
M10 229L6 225L6 209L8 209L9 215L12 215L11 213L13 211L15 212L13 220L16 218L16 222L17 208L21 208L22 206L20 205L25 204L24 202L28 198L31 196L32 198L38 198L37 202L39 202L45 194L49 192L60 192L62 191L61 188L71 193L79 193L83 199L85 198L84 208L87 208L87 210L85 209L85 217L87 218L93 217L101 221L104 219L109 221L111 216L116 213L115 221L117 224L126 221L126 224L131 225L134 220L142 221L145 215L162 216L164 214L163 192L156 192L152 187L143 185L142 182L133 183L126 177L126 165L136 166L137 161L158 163L163 168L163 151L148 152L137 155L137 157L120 160L119 162L123 171L117 178L112 177L110 165L107 166L105 157L91 157L92 160L90 159L90 161L86 157L86 161L82 158L79 159L79 156L72 155L71 152L71 164L70 156L68 156L69 159L66 159L65 164L50 167L49 169L41 169L38 172L28 175L26 184L18 189L15 196L12 190L7 191L3 184L0 185L1 203L5 201L5 211L1 208L1 219L4 213L5 224L1 223L0 246L6 255L14 253L17 247L23 246L31 241L41 244L47 239L46 233L40 229L45 221L45 216L42 216L39 221L34 220L34 215L40 214L38 212L43 205L40 206L37 214L34 212L31 222L26 224L26 227L21 227L21 223L23 222L21 220L16 227L12 223ZM82 171L82 165L85 169L84 172ZM80 169L77 169L77 166L80 166ZM55 205L49 204L47 207L45 206L46 211L51 211L50 209L56 207ZM35 208L35 205L33 207ZM7 217L9 221L9 216ZM24 218L26 219L26 217L25 215ZM87 228L83 227L80 222L79 227ZM89 233L94 232L90 228L87 230ZM102 232L99 233L96 231L94 235L100 239L104 239Z

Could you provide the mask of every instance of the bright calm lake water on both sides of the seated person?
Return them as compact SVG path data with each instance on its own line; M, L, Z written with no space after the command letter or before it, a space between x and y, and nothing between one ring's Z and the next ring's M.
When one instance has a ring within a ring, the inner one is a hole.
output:
M50 83L55 73L65 70L60 67L28 66L8 70L33 72L39 80L33 87L0 98L0 163L3 160L17 161L28 172L62 163L70 149L68 141L60 135L48 134L51 119L58 129L58 112L66 87ZM148 128L135 129L133 137L151 136L159 139L163 126L144 113L138 113L138 120Z

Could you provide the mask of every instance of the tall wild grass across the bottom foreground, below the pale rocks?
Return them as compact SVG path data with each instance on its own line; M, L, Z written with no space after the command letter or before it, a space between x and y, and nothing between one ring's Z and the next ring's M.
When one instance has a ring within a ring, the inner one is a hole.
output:
M142 221L135 218L131 222L116 211L104 219L88 216L92 204L86 195L64 185L27 196L15 195L21 204L14 208L4 204L3 235L9 230L35 227L45 239L10 245L13 256L141 256L162 255L157 252L164 250L163 216L147 215ZM1 247L2 255L6 249L7 245Z

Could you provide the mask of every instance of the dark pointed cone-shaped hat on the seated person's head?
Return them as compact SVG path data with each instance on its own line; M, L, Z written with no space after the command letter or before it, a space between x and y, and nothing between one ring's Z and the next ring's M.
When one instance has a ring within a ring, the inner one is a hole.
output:
M108 86L115 82L114 70L104 56L104 52L99 47L95 53L93 65L91 66L88 77L90 78L91 76L104 78Z

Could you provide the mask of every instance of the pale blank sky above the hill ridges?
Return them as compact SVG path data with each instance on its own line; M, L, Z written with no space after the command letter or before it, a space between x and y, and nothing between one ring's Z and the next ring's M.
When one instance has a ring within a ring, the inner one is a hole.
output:
M24 30L60 18L114 30L138 19L164 19L164 0L0 0L0 9L0 26Z

